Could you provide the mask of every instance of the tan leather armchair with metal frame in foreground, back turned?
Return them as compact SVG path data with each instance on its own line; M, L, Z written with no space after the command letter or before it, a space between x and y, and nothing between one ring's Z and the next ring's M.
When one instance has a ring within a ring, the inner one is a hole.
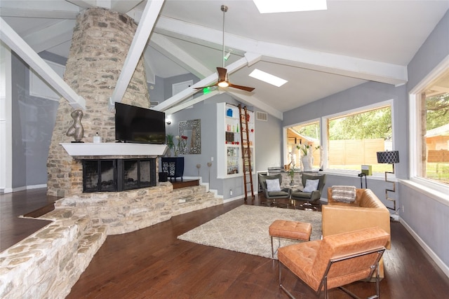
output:
M278 251L279 286L294 298L282 284L284 265L317 294L324 291L325 298L330 288L342 288L375 274L377 295L370 298L379 298L379 260L388 241L389 234L381 228L367 228L281 247ZM345 288L342 290L348 292Z

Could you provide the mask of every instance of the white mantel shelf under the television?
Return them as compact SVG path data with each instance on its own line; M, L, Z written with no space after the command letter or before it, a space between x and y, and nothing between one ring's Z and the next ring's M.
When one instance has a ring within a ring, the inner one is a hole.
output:
M62 143L65 151L72 157L90 156L157 156L163 155L167 146L165 144L129 144L129 143Z

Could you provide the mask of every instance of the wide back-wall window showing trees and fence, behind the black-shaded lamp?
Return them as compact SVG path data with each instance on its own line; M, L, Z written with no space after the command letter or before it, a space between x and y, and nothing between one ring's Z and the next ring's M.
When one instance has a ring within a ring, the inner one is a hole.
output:
M377 151L393 149L391 103L327 118L328 169L357 170L371 165L373 173L391 171L377 164Z

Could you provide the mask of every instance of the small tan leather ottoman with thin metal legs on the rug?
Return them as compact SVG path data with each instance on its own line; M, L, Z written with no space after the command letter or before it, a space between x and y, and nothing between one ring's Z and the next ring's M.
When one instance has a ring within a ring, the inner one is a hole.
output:
M278 237L279 246L281 246L281 238L309 241L311 224L300 221L276 220L272 225L269 225L268 232L272 237L272 258L274 258L273 237Z

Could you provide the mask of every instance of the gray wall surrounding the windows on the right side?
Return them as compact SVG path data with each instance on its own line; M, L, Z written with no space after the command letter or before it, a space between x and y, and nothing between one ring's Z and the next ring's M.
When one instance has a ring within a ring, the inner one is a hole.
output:
M396 165L396 176L399 179L409 179L408 92L448 55L449 12L445 14L408 64L407 85L395 88L382 83L364 83L284 113L283 126L394 99L394 148L399 151L401 160ZM326 186L333 185L360 186L360 179L356 176L329 175ZM391 202L384 200L386 187L384 181L368 177L368 188L373 189L377 197L391 207ZM449 267L447 229L449 202L435 200L424 193L422 188L411 187L407 183L399 182L396 187L397 192L391 197L398 199L397 207L401 208L399 211L401 218L417 234L417 238L422 239L424 246L428 246L442 260L445 264L443 267L447 270Z

